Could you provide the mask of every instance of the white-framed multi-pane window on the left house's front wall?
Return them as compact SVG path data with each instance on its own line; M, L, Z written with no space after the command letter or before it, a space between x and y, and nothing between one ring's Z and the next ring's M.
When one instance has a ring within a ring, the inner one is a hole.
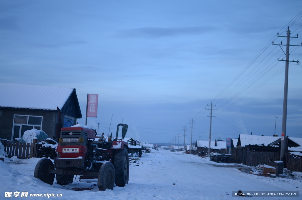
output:
M13 132L11 134L11 141L16 138L21 138L25 131L33 128L37 130L42 129L42 116L31 115L14 115Z

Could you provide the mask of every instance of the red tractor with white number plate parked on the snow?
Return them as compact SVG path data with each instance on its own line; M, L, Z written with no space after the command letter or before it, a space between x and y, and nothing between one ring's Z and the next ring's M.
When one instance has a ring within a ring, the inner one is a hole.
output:
M121 139L117 139L119 126L123 127ZM54 164L48 158L41 159L34 177L52 185L56 175L58 184L67 185L77 175L97 178L99 190L113 189L114 182L123 187L129 180L129 148L123 141L127 128L127 124L118 124L115 139L111 140L111 134L108 141L93 129L61 128Z

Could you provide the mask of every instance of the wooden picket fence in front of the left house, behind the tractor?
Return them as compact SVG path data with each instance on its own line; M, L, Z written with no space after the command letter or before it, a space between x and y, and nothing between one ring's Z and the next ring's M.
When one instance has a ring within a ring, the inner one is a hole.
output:
M18 159L28 159L37 157L38 149L42 146L41 144L37 144L37 142L40 141L41 140L34 140L34 143L19 143L18 141L1 140L1 143L4 146L4 150L7 153L8 158L17 156Z

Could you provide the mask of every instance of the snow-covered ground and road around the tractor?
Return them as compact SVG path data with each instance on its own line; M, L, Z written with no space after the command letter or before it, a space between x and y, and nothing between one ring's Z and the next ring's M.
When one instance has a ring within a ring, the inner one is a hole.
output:
M16 161L17 160L17 161ZM302 179L269 178L239 171L238 164L214 163L210 160L167 150L143 153L139 161L131 161L129 184L113 190L98 191L96 179L79 181L65 187L43 183L33 177L39 158L5 159L0 162L0 199L5 192L62 193L50 199L245 199L232 197L232 191L301 191ZM301 176L302 173L298 173ZM92 181L92 182L91 182ZM173 185L175 183L175 185ZM74 191L72 188L93 188ZM301 194L300 194L301 195ZM20 193L21 196L21 193ZM21 198L21 197L18 198ZM14 197L13 197L14 198ZM23 198L23 197L22 197ZM39 197L27 197L35 199ZM45 197L44 197L45 198ZM301 197L300 197L301 198ZM263 199L254 197L253 199ZM271 197L270 199L292 199Z

